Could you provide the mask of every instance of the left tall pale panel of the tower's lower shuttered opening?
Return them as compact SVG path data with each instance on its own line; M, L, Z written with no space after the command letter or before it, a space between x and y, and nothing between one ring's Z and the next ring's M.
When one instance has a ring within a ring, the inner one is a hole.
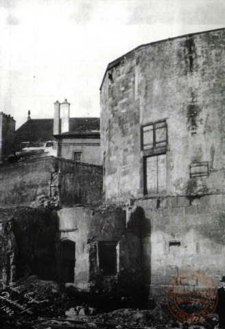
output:
M146 159L146 190L147 194L157 193L157 156Z

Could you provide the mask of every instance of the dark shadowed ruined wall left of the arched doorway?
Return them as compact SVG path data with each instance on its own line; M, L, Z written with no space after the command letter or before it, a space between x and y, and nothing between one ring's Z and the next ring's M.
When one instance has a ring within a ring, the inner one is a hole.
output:
M57 217L46 209L0 208L3 221L3 283L36 274L56 279Z

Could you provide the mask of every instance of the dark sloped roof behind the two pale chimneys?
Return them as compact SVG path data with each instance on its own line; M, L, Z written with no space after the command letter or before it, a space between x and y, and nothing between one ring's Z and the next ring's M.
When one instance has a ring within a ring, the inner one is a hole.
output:
M100 130L99 118L70 118L69 132L87 133ZM29 142L29 147L42 147L47 141L53 141L54 119L30 119L16 130L16 145L19 147L22 142ZM63 135L63 134L62 134ZM58 136L62 136L61 134ZM76 134L75 134L76 135ZM85 135L85 134L84 134Z

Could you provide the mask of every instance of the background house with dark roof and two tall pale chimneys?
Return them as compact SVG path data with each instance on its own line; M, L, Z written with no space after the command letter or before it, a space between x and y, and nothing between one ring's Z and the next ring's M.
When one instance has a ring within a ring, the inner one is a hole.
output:
M71 118L70 103L54 103L54 119L32 119L16 130L16 150L27 156L58 156L68 160L102 164L100 151L100 119Z

